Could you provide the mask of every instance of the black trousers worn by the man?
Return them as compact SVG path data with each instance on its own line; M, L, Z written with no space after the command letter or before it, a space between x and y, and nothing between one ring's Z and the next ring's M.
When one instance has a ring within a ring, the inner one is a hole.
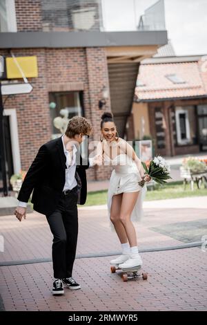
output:
M52 263L54 277L72 277L78 234L77 189L62 194L55 212L46 216L54 236L52 243Z

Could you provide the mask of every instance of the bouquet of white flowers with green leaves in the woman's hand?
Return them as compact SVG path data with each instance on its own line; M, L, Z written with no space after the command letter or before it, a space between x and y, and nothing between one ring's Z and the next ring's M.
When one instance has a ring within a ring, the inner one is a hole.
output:
M166 160L161 156L156 156L153 160L150 160L148 166L146 163L141 162L146 171L146 174L155 180L155 182L159 184L167 183L166 180L172 178L170 177L170 165L166 162ZM144 187L145 180L141 180L139 185Z

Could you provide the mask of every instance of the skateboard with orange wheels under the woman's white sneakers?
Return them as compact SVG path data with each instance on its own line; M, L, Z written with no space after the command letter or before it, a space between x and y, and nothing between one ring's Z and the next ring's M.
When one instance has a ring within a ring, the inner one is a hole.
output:
M141 270L141 266L136 266L135 268L119 268L118 265L111 266L110 272L115 273L117 270L121 270L120 272L121 278L124 282L130 280L130 279L137 279L141 278L144 280L148 279L148 273L142 272L139 273L139 270Z

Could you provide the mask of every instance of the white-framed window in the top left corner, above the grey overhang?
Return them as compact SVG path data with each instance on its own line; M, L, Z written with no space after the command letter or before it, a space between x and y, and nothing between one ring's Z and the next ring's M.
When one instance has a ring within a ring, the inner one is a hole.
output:
M0 32L17 32L14 0L0 0Z

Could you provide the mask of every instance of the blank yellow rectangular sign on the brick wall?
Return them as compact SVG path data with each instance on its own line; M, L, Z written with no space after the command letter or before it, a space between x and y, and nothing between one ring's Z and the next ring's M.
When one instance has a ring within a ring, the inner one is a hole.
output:
M37 57L16 57L25 77L38 77ZM6 73L8 79L22 78L21 71L13 57L6 57Z

